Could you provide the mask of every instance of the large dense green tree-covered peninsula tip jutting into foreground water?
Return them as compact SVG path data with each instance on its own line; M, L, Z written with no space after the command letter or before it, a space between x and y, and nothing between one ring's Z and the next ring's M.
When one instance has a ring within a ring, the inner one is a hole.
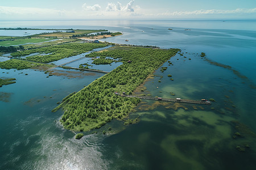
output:
M103 52L90 53L88 57L119 58L123 65L109 74L94 80L87 87L61 103L64 114L60 119L64 128L89 131L100 128L113 119L130 124L137 120L127 119L139 103L134 97L121 97L114 92L131 94L149 74L174 56L179 49L155 49L138 46L115 46ZM132 62L128 62L132 61Z

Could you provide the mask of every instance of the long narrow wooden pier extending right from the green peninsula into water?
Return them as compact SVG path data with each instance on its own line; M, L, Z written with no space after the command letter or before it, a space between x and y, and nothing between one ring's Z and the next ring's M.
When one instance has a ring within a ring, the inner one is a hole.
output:
M118 94L118 93L115 93L115 94ZM120 95L120 96L122 96L122 97L137 97L139 99L170 101L170 102L179 102L179 103L192 103L192 104L205 104L205 105L212 104L210 101L207 101L205 99L202 99L202 100L188 100L188 99L180 99L180 98L165 99L165 98L162 98L162 97L136 96L136 95Z

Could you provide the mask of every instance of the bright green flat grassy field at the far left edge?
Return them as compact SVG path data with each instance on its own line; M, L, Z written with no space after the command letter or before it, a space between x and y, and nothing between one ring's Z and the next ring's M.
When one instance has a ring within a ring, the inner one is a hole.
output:
M38 42L44 42L49 41L53 39L46 39L46 38L31 38L31 39L17 39L13 41L1 41L0 46L13 46L13 45L22 45L27 43L38 43Z

